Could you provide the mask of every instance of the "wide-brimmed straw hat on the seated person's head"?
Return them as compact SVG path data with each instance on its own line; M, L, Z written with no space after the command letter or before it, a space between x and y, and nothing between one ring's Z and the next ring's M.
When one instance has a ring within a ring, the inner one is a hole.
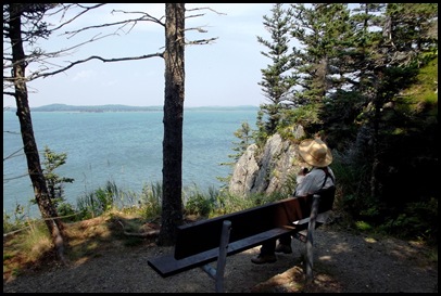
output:
M332 163L330 149L320 139L303 140L299 144L300 156L314 167L326 167Z

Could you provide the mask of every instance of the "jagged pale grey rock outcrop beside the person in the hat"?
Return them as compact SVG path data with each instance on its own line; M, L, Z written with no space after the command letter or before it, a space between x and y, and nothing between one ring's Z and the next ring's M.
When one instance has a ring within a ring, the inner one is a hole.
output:
M280 134L272 136L263 150L248 147L235 165L229 192L237 195L281 191L299 170L297 146Z

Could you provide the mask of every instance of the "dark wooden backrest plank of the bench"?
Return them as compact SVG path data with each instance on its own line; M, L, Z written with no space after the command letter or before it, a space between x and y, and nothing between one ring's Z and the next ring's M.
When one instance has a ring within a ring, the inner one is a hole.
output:
M175 258L182 259L218 247L224 220L231 222L229 242L232 243L267 230L292 226L292 222L310 217L312 202L312 195L289 197L180 226L177 228ZM318 213L331 209L331 206L329 208L329 203L326 203L319 206Z

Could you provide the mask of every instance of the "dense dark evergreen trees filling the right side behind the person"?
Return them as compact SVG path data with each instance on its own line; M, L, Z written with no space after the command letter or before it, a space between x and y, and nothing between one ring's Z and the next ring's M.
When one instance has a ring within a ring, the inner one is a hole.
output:
M263 17L270 38L257 38L269 59L260 83L268 103L254 132L259 147L275 132L294 144L320 137L335 154L336 203L350 221L434 245L438 186L424 172L438 171L437 11L275 3Z

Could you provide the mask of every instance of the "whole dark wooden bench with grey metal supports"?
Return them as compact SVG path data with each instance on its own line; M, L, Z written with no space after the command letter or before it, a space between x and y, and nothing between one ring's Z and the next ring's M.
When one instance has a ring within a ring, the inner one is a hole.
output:
M223 292L227 256L290 234L306 243L306 276L312 281L313 230L324 222L317 221L317 215L331 210L333 194L331 202L322 204L319 200L317 194L289 197L179 226L174 254L151 258L148 263L163 278L201 267L216 281L216 292ZM214 269L210 263L216 260Z

